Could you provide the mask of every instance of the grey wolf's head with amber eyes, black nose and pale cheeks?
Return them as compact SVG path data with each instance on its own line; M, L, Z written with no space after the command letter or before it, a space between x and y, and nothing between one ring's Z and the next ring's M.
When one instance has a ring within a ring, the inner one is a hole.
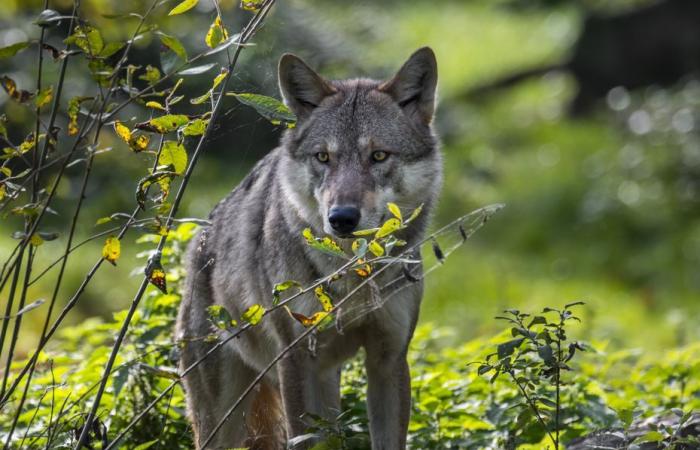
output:
M387 219L387 202L407 211L430 207L442 180L431 126L437 64L430 48L384 82L325 80L286 54L279 84L297 116L284 137L283 186L304 219L349 237Z

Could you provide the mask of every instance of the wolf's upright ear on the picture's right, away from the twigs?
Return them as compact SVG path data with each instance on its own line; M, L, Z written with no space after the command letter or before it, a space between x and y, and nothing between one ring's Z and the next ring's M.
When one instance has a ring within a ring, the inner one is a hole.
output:
M433 120L436 88L437 61L430 47L417 50L394 78L379 86L409 117L425 125Z

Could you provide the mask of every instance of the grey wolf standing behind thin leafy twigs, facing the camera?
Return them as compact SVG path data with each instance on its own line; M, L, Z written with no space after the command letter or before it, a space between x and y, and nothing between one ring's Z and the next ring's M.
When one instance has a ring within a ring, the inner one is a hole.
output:
M211 333L207 307L224 306L233 317L255 304L270 308L276 283L296 280L308 286L341 266L340 258L304 242L305 228L347 246L353 231L377 227L390 217L388 202L408 211L423 205L423 213L400 231L412 245L423 237L441 189L442 156L432 125L437 63L430 48L417 50L386 81L327 80L291 54L281 57L278 76L297 123L214 208L211 225L190 245L176 326L177 338L185 342L182 369L212 346L201 339ZM419 271L417 266L412 270ZM378 282L401 273L389 266ZM406 352L423 294L420 277L411 278L397 298L368 308L352 325L318 333L313 349L294 348L206 448L286 448L289 439L308 428L306 413L332 420L341 408L342 364L360 348L372 448L405 448L411 402ZM343 280L332 284L335 298L359 284L352 277ZM348 302L376 303L375 297L363 287ZM318 300L313 293L304 295L293 308L311 315L319 309ZM184 377L197 448L204 448L256 375L303 331L285 311L275 310Z

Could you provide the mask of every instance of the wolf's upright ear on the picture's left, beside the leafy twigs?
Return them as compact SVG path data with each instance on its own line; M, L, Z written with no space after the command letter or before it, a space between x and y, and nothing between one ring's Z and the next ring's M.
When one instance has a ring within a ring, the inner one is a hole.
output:
M326 96L336 92L299 57L285 53L278 69L280 92L289 109L300 119L305 119Z

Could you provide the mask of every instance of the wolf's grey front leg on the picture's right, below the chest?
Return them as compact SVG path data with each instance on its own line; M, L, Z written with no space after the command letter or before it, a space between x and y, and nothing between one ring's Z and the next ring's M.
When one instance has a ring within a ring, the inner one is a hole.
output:
M406 352L373 353L369 347L366 366L372 450L404 449L411 414L411 377Z

